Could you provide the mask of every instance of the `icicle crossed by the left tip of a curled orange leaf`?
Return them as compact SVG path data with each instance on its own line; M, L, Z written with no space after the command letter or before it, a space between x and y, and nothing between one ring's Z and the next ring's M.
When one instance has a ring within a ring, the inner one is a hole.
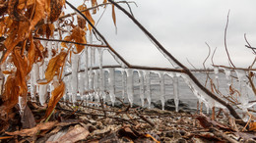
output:
M42 66L39 68L40 79L44 78L45 69L46 69L46 63L43 62ZM40 85L39 86L39 102L42 106L45 104L46 96L47 96L47 85Z

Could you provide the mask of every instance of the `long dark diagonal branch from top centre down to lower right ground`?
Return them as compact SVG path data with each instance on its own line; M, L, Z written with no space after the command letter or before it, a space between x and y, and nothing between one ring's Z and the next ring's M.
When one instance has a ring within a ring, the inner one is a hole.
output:
M125 9L123 9L120 5L118 5L116 2L113 0L108 0L111 2L113 5L115 5L119 10L121 10L126 16L128 16L139 28L154 42L156 46L158 46L160 52L165 54L168 58L170 58L173 62L175 62L180 68L184 70L184 72L194 81L194 83L201 89L203 90L207 95L209 95L211 98L214 100L218 101L220 104L222 104L224 107L226 107L230 114L235 118L235 119L241 119L238 114L235 112L235 110L224 100L219 98L217 95L213 94L211 91L209 91L206 87L204 87L199 80L194 76L194 74L189 71L188 68L186 68L184 65L182 65L176 58L174 58L161 44L160 42L142 25L140 24L132 15L130 15Z

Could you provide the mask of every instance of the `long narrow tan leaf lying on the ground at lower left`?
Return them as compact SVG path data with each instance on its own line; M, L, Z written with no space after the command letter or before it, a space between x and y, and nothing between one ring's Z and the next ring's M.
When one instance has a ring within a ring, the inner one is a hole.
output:
M40 130L48 130L55 126L57 121L40 122L30 129L22 129L14 132L5 132L8 135L34 136Z

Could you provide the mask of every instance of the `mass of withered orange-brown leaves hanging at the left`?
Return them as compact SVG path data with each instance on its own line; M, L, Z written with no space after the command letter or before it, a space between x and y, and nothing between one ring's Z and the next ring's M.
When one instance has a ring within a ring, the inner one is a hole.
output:
M92 7L96 7L97 1L91 0L91 4ZM58 32L60 36L56 40L86 44L87 31L92 31L93 27L81 16L77 16L77 25L70 21L71 31L62 39L61 33L67 33L64 27L69 26L64 20L59 19L64 15L62 10L65 7L65 0L0 0L0 52L3 53L0 57L0 66L1 72L6 75L1 95L3 103L0 104L0 119L8 120L8 115L17 105L19 97L26 99L23 100L23 105L27 104L30 72L34 64L42 66L45 59L47 59L45 79L37 81L37 86L48 84L54 76L57 76L55 81L57 84L51 93L45 118L51 114L62 98L65 90L62 71L66 58L69 53L82 52L85 46L76 44L76 49L72 49L71 45L63 42L57 52L56 49L47 48L45 42L34 37L56 39L54 33ZM89 11L84 3L78 7L78 10L83 11L90 22L95 24L92 14L96 14L97 8ZM55 27L54 23L57 23L58 27ZM52 51L48 52L49 50Z

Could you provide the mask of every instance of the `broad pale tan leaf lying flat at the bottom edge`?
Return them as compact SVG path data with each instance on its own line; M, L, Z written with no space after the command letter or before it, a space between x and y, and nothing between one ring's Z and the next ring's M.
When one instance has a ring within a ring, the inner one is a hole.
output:
M56 142L77 142L86 139L89 133L90 132L85 127L77 125L65 135L60 137Z

